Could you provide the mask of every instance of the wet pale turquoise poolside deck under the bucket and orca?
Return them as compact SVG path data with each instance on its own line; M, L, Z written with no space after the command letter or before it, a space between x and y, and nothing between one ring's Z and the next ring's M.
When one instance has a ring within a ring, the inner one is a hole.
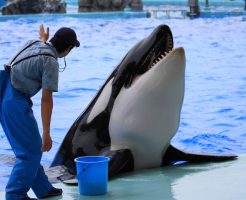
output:
M62 197L53 200L245 200L246 155L221 163L187 164L138 171L109 181L108 193L83 196L77 186L56 184ZM29 195L34 197L32 192ZM0 193L4 199L4 192Z

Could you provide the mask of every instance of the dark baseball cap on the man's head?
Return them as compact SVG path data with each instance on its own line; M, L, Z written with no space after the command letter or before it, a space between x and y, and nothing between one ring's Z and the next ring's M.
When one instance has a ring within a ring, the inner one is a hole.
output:
M73 45L75 47L79 47L80 43L77 40L76 33L73 29L63 27L60 28L54 35L55 38L59 39L60 41L68 44Z

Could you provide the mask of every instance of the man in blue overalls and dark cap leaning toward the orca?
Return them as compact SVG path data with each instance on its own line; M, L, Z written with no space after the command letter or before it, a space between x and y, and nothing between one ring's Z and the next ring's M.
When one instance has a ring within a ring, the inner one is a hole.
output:
M50 43L49 29L40 26L40 40L29 41L15 56L5 71L0 71L0 122L16 156L6 186L7 200L31 199L30 188L38 198L62 194L48 181L40 165L42 152L52 147L50 121L53 109L52 93L58 90L57 58L79 47L75 32L59 29ZM42 89L42 139L32 111L31 97Z

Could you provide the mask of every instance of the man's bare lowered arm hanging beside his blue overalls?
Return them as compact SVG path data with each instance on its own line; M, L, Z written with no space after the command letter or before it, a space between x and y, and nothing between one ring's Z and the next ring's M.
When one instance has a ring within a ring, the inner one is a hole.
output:
M53 109L52 91L43 89L41 99L41 117L43 123L43 145L42 151L49 151L52 147L50 137L50 122Z

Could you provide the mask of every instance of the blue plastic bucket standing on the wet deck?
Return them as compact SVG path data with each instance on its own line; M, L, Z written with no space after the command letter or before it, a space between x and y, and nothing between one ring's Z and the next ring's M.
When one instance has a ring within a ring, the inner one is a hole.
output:
M108 157L83 156L75 160L79 193L102 195L108 191Z

